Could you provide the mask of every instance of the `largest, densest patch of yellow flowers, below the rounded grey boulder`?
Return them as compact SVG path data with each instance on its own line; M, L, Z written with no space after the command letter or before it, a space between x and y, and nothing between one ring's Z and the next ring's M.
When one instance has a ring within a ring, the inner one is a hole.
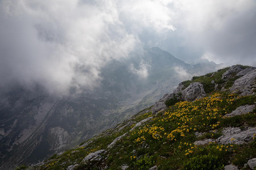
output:
M198 102L196 104L195 102ZM223 100L220 98L219 93L215 93L210 97L205 97L203 99L198 99L194 102L183 101L176 103L176 110L174 111L166 111L164 115L167 115L169 121L177 121L177 125L180 125L176 129L174 129L170 134L168 134L167 138L170 140L175 140L176 137L185 136L185 132L189 132L189 130L193 129L196 131L196 125L198 122L193 122L194 119L201 119L204 121L208 120L208 122L214 122L221 115L218 113L220 108L217 106L217 103L222 103ZM162 119L163 121L163 119ZM167 122L168 120L166 120ZM220 125L218 121L215 124L210 124L212 129L216 128ZM203 123L201 127L208 126L208 124ZM184 129L185 128L185 129ZM175 135L176 134L176 135Z

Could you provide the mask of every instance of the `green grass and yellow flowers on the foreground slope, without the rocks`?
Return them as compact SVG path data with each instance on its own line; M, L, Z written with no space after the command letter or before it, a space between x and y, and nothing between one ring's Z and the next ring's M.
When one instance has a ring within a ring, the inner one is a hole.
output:
M227 69L218 73L222 75ZM221 76L218 73L215 73L214 80L224 81L220 80ZM212 73L194 78L205 82L205 88L207 82L212 81L211 75ZM225 86L226 82L222 82L222 85ZM183 83L186 84L186 82ZM121 169L122 166L129 166L127 170L148 170L154 165L158 166L158 170L223 169L230 162L242 169L247 160L256 158L256 139L243 145L210 143L196 146L193 143L196 140L217 139L222 135L222 129L225 127L255 127L256 109L234 117L223 116L239 106L255 104L256 96L240 97L238 93L231 93L229 90L209 89L209 92L205 98L192 102L180 101L156 115L152 115L151 108L146 108L115 128L108 129L80 146L66 150L62 154L53 155L40 165L20 166L16 170L59 170L67 169L69 165L75 164L79 164L74 168L75 170L114 170ZM136 123L151 116L153 118L150 121L130 131ZM205 132L205 134L197 137L196 132ZM115 138L125 133L127 133L125 137L117 141L113 147L108 148ZM87 145L84 145L85 143ZM82 162L88 154L102 149L107 152L102 154L100 161Z

